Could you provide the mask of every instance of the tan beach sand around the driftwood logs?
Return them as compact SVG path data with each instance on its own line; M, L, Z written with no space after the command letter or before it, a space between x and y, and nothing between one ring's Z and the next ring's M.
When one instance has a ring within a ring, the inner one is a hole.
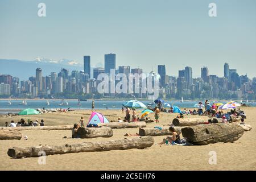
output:
M22 131L28 140L0 140L0 170L255 170L256 169L256 107L242 107L246 112L246 123L253 129L233 143L215 143L207 146L167 146L153 145L143 150L116 150L106 152L81 152L76 154L46 156L46 164L39 164L39 158L11 159L8 148L38 146L39 144L62 145L86 141L107 141L128 138L125 133L135 134L139 129L113 129L112 138L64 139L71 137L71 131L34 130ZM121 110L99 110L106 118L117 120L124 117ZM109 116L110 115L110 116ZM0 126L13 119L44 119L46 125L73 125L83 116L85 121L90 117L90 110L76 110L66 113L48 113L30 116L0 117ZM154 118L154 114L149 117ZM167 125L176 114L161 113L160 124L148 123L147 127ZM188 117L198 117L191 116ZM205 117L207 120L207 117ZM130 137L129 137L130 138ZM154 137L155 143L164 136ZM217 152L217 164L210 165L210 151Z

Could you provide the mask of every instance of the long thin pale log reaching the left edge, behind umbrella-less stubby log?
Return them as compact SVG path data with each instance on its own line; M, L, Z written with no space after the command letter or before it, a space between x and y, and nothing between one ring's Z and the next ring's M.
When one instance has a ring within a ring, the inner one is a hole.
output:
M2 130L72 130L72 125L0 127Z

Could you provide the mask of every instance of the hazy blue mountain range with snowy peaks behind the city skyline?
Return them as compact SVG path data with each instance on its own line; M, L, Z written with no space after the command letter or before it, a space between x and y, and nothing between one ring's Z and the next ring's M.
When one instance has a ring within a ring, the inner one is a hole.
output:
M20 81L28 80L31 76L35 77L36 68L41 68L43 76L48 76L51 72L59 73L61 68L68 69L69 74L71 74L73 70L82 71L84 70L84 65L75 60L52 60L40 57L32 61L0 59L0 75L15 76L18 77ZM91 67L91 69L93 68Z

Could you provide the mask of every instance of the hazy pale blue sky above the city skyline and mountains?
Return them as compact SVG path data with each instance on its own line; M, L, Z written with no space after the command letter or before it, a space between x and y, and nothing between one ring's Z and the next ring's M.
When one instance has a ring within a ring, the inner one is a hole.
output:
M38 4L46 3L46 17ZM217 4L217 17L208 15ZM157 71L166 65L177 75L186 65L193 77L201 67L223 76L224 63L254 77L255 0L1 0L0 59L72 59L104 63L117 54L118 65Z

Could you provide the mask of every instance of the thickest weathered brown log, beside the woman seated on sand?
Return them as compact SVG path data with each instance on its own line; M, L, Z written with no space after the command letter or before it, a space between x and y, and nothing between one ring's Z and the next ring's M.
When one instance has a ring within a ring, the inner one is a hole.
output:
M217 142L234 142L243 135L243 129L236 123L214 123L189 126L181 129L184 138L193 144L205 145Z

